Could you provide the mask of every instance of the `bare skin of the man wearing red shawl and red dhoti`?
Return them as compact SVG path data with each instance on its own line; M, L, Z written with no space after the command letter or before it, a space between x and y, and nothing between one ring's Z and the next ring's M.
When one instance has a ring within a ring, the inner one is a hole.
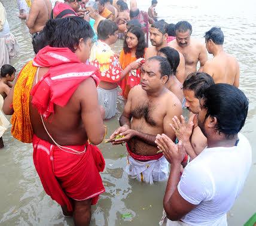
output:
M80 39L80 43L75 47L77 49L75 54L81 62L86 62L89 58L91 45L91 39L87 39L87 41ZM47 71L47 67L39 69L38 80L41 79ZM34 78L33 86L35 85L35 81L36 78ZM5 98L3 107L5 114L13 114L13 109L10 108L10 105L13 103L14 87L11 88L10 93L7 98ZM90 98L87 98L89 96ZM31 100L32 97L30 97L29 112L34 134L54 144L51 138L48 137L42 125L38 110L32 106ZM100 144L105 135L105 127L97 101L95 81L92 78L88 78L80 83L66 106L54 106L54 114L52 114L48 120L44 120L47 130L54 140L60 145L83 145L88 139L92 144ZM62 206L63 214L73 216L75 225L89 225L91 200L71 201L74 205L74 212L67 212L66 206Z

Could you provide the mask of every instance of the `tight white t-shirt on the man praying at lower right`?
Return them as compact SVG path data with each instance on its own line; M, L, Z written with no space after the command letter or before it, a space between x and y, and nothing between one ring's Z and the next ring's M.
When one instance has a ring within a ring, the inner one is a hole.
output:
M243 188L252 163L249 141L238 134L234 147L205 148L182 174L179 194L194 205L181 220L191 225L227 225L226 213Z

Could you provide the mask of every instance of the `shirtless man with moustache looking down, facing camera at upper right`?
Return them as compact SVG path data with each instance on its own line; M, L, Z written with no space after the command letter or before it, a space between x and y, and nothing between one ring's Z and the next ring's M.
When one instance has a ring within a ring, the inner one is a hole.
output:
M169 42L169 47L175 48L185 58L186 76L197 71L197 63L200 61L199 72L202 72L203 66L207 61L207 51L205 45L198 40L190 38L192 26L187 21L179 21L175 25L176 39Z

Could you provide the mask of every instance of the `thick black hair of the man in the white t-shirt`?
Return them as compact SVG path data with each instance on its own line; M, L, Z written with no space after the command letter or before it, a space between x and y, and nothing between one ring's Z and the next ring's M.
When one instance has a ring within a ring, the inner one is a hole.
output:
M225 138L233 138L245 125L248 113L248 99L245 94L233 85L218 83L205 91L203 108L205 119L217 118L216 132L225 134Z

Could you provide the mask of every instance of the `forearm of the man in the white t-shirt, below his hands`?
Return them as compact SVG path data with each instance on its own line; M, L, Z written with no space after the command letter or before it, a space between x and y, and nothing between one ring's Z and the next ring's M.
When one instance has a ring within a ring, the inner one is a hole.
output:
M168 205L170 197L172 196L173 192L175 191L175 189L179 184L180 172L181 172L181 164L172 163L170 165L170 175L169 175L169 179L167 182L167 187L166 187L166 191L163 199L164 206Z

